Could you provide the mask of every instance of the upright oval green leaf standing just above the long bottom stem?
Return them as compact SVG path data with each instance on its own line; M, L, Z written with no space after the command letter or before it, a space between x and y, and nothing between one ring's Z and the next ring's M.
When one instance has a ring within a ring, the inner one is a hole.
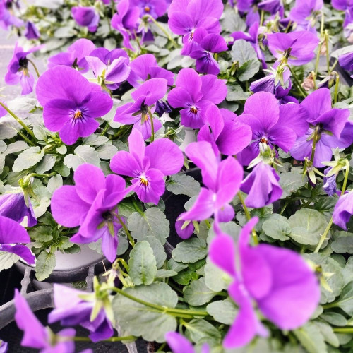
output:
M150 285L155 279L157 266L148 241L138 241L128 260L128 275L135 285Z

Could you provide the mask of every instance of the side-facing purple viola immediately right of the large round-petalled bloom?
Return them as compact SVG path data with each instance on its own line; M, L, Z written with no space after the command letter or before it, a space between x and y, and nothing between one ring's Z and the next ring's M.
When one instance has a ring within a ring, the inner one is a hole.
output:
M140 85L131 93L131 97L135 102L130 102L118 107L114 116L114 121L118 123L131 125L133 130L142 133L145 140L152 135L151 116L155 112L155 104L157 100L161 100L167 92L167 80L164 78L151 78ZM162 127L162 123L153 119L153 127L158 131Z

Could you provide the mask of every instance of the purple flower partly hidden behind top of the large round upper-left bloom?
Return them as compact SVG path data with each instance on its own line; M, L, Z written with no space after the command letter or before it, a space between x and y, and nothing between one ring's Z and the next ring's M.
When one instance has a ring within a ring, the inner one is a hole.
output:
M94 49L95 44L93 44L92 41L86 40L85 38L76 40L76 42L68 47L66 53L59 53L49 57L48 68L64 65L79 69L80 73L85 73L89 68L85 56L90 55Z

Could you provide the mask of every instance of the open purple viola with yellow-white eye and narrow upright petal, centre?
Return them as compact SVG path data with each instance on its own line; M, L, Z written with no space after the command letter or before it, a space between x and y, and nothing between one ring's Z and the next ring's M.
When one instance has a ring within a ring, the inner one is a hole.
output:
M140 131L128 136L128 150L119 151L110 162L116 174L133 178L133 190L140 201L157 203L165 190L164 177L176 174L184 164L179 147L167 138L160 138L147 147Z

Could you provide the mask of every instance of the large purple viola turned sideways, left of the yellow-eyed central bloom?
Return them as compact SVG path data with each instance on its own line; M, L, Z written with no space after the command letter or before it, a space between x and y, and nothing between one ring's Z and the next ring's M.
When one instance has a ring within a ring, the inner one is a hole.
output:
M88 178L89 176L89 178ZM102 239L104 256L113 263L122 227L116 206L131 191L123 178L92 164L81 164L73 174L75 186L64 185L52 196L52 215L64 227L78 227L71 241L78 244Z

